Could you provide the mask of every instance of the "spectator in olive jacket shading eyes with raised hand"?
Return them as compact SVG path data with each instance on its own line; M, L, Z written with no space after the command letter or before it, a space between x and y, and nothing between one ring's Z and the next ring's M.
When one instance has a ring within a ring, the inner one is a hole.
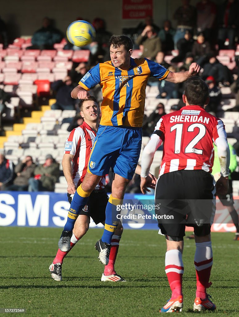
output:
M160 38L157 36L154 28L147 25L141 35L138 36L136 44L142 51L141 57L154 60L157 53L162 50Z

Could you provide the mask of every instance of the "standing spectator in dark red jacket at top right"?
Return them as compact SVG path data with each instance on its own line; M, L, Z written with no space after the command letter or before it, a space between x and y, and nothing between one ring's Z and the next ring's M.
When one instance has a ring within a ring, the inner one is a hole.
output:
M215 44L216 4L210 0L197 3L197 31L203 32L205 40Z

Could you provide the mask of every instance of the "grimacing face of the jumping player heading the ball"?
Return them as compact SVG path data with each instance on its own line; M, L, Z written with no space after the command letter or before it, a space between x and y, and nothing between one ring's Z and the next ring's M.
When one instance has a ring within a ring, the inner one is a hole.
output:
M132 49L127 51L124 45L113 48L113 45L110 46L110 59L114 67L119 67L121 69L127 69L130 67L130 56L132 54Z

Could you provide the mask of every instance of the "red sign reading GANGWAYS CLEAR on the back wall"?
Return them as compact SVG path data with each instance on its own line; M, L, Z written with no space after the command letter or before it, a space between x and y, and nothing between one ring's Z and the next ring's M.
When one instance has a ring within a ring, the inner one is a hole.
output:
M144 19L153 15L153 0L123 0L123 19Z

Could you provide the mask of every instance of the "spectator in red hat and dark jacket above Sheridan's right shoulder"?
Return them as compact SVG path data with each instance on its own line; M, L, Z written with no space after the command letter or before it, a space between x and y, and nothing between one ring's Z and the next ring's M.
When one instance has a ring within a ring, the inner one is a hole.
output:
M208 76L205 80L209 88L209 103L206 105L205 110L210 112L214 116L217 114L218 106L222 99L222 94L220 88L216 85L215 78L213 76Z

